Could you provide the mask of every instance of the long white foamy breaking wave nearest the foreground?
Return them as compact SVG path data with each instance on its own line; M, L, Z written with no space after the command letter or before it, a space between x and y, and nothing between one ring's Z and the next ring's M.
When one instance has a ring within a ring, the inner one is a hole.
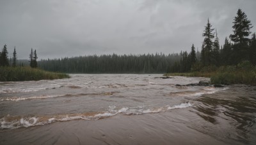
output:
M20 127L33 127L37 125L47 125L56 121L70 121L70 120L99 120L103 118L109 118L115 116L116 114L125 115L136 115L136 114L147 114L147 113L160 113L169 111L172 109L182 109L186 107L191 107L192 104L182 103L176 106L164 106L159 108L144 108L138 107L122 107L116 109L115 106L109 106L108 111L104 112L89 112L89 113L70 113L70 114L56 114L49 116L4 116L0 119L1 127L0 129L14 129Z

